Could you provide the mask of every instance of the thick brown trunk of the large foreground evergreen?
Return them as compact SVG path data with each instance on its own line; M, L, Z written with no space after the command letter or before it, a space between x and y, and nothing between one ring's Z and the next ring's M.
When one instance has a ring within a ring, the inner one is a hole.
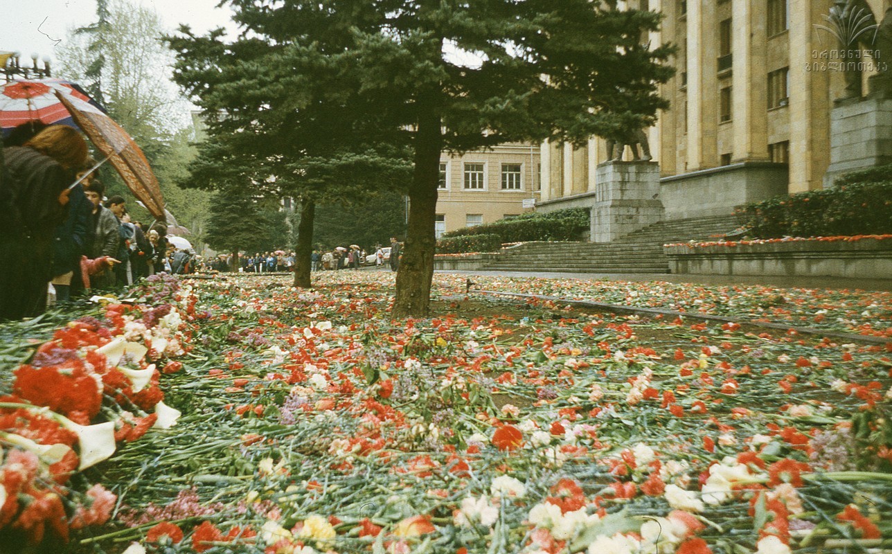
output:
M434 216L440 178L442 130L435 94L419 95L415 170L409 187L409 227L396 275L395 318L425 318L434 280Z

